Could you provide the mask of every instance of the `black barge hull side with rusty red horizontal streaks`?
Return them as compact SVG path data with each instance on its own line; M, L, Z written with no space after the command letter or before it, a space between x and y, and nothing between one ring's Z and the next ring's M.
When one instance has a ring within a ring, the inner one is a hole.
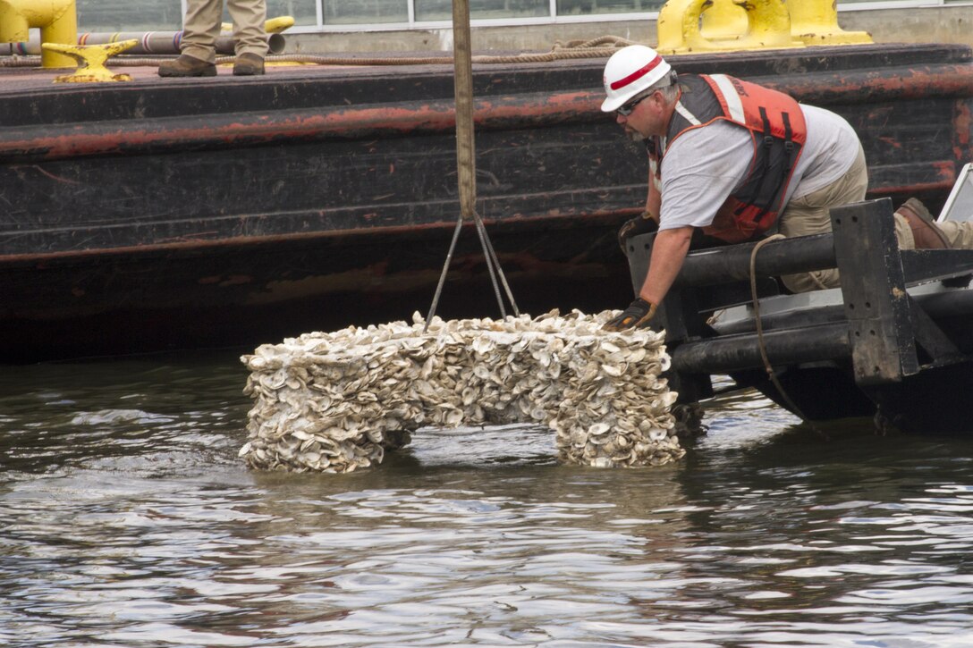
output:
M968 48L670 59L846 117L873 197L938 208L973 160ZM526 311L631 299L615 231L646 165L598 111L602 65L474 70L479 211ZM0 362L274 342L428 307L458 211L449 65L0 79ZM491 295L466 232L440 312L495 316Z

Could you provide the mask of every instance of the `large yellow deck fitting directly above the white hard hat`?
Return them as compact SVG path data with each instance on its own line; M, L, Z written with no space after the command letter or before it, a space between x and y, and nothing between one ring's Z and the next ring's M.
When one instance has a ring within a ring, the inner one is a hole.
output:
M804 47L791 37L790 16L783 0L730 0L743 10L744 20L723 0L668 0L659 12L659 50L663 54L763 50ZM716 19L704 14L715 10ZM719 18L729 17L738 25L736 33L720 28ZM705 26L705 32L701 28Z

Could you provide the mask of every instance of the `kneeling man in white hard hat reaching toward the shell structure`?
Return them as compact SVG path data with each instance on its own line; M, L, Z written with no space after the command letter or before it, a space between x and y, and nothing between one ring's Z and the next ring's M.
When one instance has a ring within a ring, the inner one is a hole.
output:
M608 59L601 110L649 153L642 217L620 238L658 227L648 275L631 306L606 330L639 326L682 268L696 230L725 242L831 231L828 210L865 198L868 172L854 130L840 116L734 77L680 75L651 48ZM918 200L896 212L904 249L973 247L973 227L946 233ZM782 277L792 292L831 288L838 270Z

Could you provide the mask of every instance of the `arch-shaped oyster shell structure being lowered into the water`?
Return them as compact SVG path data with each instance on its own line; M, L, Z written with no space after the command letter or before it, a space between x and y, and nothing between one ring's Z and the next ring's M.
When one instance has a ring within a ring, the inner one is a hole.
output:
M658 466L681 457L664 335L605 332L617 311L434 317L264 344L241 361L254 400L239 456L251 468L346 473L419 427L537 423L559 460Z

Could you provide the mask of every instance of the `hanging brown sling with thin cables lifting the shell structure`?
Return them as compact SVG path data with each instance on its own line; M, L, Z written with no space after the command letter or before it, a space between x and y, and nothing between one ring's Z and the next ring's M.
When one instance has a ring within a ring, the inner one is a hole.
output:
M500 287L497 284L497 276L503 283L503 288L507 293L507 299L514 310L515 315L520 315L514 295L507 284L507 277L504 276L500 268L500 261L493 250L493 244L486 234L486 226L480 214L477 213L477 184L476 184L476 160L473 143L473 61L470 48L470 5L469 0L452 0L452 63L454 70L454 96L456 102L456 175L459 183L459 216L456 218L456 227L452 231L452 241L450 251L446 255L446 263L443 264L443 271L439 275L439 284L436 286L436 294L432 298L432 305L429 306L429 315L426 317L425 326L422 332L425 333L429 328L429 322L436 314L436 306L439 306L439 297L443 292L443 284L446 283L446 274L450 270L452 253L456 248L456 240L462 229L464 220L472 220L480 236L480 244L484 249L486 258L486 270L489 271L490 282L493 284L493 293L496 296L497 304L500 306L500 316L507 316L507 309L504 307L503 298L500 295Z

